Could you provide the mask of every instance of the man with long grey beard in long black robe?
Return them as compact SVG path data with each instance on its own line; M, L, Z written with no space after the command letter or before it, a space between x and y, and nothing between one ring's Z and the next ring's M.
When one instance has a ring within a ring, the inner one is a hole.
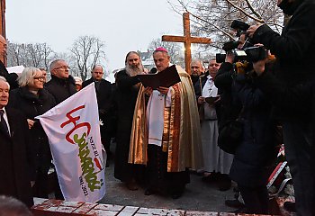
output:
M128 189L137 190L143 166L128 163L132 117L139 92L138 74L147 73L138 52L130 51L125 59L125 68L116 74L117 136L114 176L126 183Z

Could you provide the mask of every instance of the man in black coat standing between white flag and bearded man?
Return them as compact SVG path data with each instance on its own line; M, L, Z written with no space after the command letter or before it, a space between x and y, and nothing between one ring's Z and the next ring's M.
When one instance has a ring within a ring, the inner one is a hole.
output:
M86 85L90 85L94 82L97 104L98 104L98 112L99 117L103 121L103 125L101 126L101 137L103 147L106 150L107 158L110 156L110 144L111 144L111 118L112 115L110 113L111 103L112 103L112 85L109 81L102 78L103 76L103 67L99 65L95 65L92 69L92 77L85 82L82 83L82 87ZM108 166L108 163L106 162Z

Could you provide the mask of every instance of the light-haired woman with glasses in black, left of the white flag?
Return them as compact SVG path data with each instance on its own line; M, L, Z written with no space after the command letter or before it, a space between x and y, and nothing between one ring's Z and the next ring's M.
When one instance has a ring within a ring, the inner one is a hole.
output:
M45 78L39 68L25 67L18 77L19 88L10 92L9 106L20 110L27 119L30 131L31 150L33 152L36 173L31 174L34 182L33 195L48 198L48 171L51 154L48 138L35 116L47 112L56 102L54 97L44 89Z

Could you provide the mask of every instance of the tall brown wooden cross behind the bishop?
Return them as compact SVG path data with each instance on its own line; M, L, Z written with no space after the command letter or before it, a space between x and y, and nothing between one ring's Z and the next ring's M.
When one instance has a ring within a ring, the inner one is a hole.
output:
M190 75L191 74L190 63L192 61L191 44L192 43L208 44L208 43L211 43L211 39L192 37L190 35L190 20L189 20L188 13L183 14L183 25L184 25L184 36L163 35L162 41L184 42L184 67L185 67L185 71Z

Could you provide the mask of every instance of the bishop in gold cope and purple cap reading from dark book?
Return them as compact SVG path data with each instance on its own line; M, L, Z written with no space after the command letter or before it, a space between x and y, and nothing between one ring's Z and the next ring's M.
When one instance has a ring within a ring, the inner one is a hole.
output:
M153 52L157 73L170 66L165 48ZM176 66L180 82L170 87L141 85L130 137L129 162L148 166L148 188L152 193L184 193L188 168L202 166L202 148L197 103L190 76ZM166 72L166 71L165 71ZM167 72L166 72L167 73ZM148 102L148 103L147 103Z

